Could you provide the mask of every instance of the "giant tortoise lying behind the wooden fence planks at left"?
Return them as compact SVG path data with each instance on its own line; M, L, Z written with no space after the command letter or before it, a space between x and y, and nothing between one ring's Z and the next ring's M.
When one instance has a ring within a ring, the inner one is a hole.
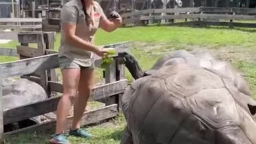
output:
M8 79L6 79L7 81ZM21 78L16 81L8 80L3 86L3 109L4 111L25 106L48 98L44 88L28 79ZM50 115L50 114L48 114ZM47 118L44 115L35 116L26 120L4 125L4 131L12 131L34 124L40 124Z

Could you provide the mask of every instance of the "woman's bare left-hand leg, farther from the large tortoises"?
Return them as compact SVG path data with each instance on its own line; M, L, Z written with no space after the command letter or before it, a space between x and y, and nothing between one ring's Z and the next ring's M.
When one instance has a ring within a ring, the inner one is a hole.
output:
M57 108L57 126L56 133L62 133L66 130L66 118L71 109L72 102L77 95L80 79L80 69L64 69L62 70L63 78L63 95L58 103Z

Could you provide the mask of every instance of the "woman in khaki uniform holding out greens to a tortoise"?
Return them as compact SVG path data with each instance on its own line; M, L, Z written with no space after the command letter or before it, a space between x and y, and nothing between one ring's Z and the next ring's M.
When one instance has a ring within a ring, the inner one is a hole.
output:
M118 18L108 20L94 0L70 0L61 9L61 46L59 63L63 79L63 96L57 108L56 134L52 144L70 144L64 135L66 118L74 102L74 120L69 134L90 138L92 135L80 129L80 120L90 96L94 78L92 52L106 56L107 52L92 44L100 27L112 32L122 24Z

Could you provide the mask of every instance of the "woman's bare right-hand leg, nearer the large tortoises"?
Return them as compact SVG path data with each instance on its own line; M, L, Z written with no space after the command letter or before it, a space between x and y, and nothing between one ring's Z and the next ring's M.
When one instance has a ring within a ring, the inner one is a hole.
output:
M82 69L78 86L78 98L74 103L74 120L71 128L72 130L76 130L81 126L81 118L86 108L93 85L94 69Z

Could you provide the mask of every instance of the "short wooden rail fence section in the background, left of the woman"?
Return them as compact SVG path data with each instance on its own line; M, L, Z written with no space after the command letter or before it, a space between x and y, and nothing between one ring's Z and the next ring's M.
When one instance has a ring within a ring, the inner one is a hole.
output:
M42 30L42 18L0 18L0 29Z

